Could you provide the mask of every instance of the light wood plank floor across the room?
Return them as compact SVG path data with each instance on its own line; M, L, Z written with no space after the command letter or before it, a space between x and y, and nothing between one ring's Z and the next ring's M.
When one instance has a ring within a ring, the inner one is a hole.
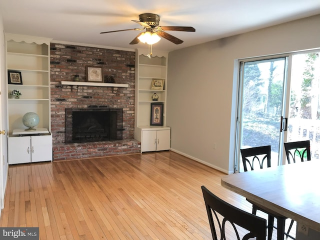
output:
M222 175L172 151L10 165L0 226L43 240L211 239L201 185L251 211Z

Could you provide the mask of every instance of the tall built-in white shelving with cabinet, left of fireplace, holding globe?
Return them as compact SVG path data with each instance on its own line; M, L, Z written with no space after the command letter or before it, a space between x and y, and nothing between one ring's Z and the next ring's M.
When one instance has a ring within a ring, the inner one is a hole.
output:
M49 59L51 39L5 33L5 40L6 68L7 70L19 72L22 82L22 84L15 84L7 79L9 164L52 160ZM19 98L11 98L10 92L14 89L22 93ZM47 133L29 131L23 136L21 134L12 134L16 129L23 130L27 128L22 123L22 117L26 112L37 113L39 123L36 128L47 129ZM24 142L23 144L21 144L22 141ZM39 153L40 149L42 151L44 146L47 154L41 153L37 155L36 153ZM34 152L35 148L37 152ZM27 149L29 149L28 155L26 157L22 156L27 152ZM32 149L33 157L31 157ZM21 157L17 160L17 156Z

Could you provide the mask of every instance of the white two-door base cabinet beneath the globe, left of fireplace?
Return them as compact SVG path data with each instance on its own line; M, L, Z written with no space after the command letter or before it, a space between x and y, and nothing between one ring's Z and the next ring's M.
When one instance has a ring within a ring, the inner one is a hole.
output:
M52 161L52 135L8 136L8 163Z

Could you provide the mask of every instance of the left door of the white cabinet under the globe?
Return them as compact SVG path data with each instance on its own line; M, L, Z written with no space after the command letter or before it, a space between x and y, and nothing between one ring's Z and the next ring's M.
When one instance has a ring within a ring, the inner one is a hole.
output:
M30 136L8 137L8 163L31 162Z

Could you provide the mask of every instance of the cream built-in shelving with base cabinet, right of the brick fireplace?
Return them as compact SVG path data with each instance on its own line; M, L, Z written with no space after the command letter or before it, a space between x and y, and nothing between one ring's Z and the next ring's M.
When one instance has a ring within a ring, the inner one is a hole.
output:
M170 127L165 125L167 52L153 52L151 57L142 49L136 51L135 68L135 128L134 138L141 141L141 152L168 150L170 148ZM161 90L151 89L153 79L163 79ZM158 95L157 101L152 95ZM163 103L163 125L150 125L151 103Z

